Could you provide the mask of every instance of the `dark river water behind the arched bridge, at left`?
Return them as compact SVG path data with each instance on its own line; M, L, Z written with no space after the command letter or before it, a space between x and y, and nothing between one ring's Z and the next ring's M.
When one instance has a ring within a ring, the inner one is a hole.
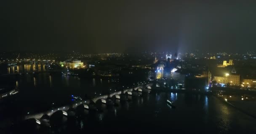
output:
M100 78L80 79L60 74L49 75L49 73L21 75L20 79L14 83L19 93L11 102L8 102L8 108L12 111L19 110L22 114L37 113L74 103L71 95L80 96L83 99L93 98L123 87L119 82ZM126 88L127 85L128 83L125 84Z

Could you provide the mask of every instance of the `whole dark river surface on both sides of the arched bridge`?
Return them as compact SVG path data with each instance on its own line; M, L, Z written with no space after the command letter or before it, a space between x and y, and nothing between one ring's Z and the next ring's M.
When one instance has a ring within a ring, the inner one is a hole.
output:
M3 118L36 113L54 106L72 103L71 95L99 95L110 89L118 90L125 84L109 80L67 77L41 73L24 75L17 80L19 95L2 104ZM125 86L127 86L125 85ZM171 108L165 101L174 102ZM54 103L54 106L52 106ZM8 115L8 116L6 116ZM3 120L2 120L3 119ZM256 132L256 119L227 106L213 96L182 93L151 93L133 97L119 106L104 108L103 112L89 113L70 121L52 133L211 133L232 134ZM43 130L40 130L43 131ZM49 131L43 131L49 133Z

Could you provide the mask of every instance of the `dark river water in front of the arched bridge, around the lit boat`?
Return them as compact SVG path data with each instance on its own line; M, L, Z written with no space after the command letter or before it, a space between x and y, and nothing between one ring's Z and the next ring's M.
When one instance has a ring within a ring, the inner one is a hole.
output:
M176 108L165 101L170 99ZM256 119L213 96L152 93L77 118L53 133L255 134Z

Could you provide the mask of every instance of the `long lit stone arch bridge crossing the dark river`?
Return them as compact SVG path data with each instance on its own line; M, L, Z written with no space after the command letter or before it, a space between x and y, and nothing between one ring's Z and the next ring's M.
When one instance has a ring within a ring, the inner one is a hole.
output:
M123 93L126 93L126 92L132 92L133 90L136 90L138 91L139 89L141 89L141 91L147 91L147 89L151 89L153 83L143 83L143 85L140 85L140 86L137 86L135 88L128 88L128 89L125 89L123 90ZM114 93L110 93L109 95L101 95L101 96L98 96L96 98L93 98L92 101L93 103L96 103L96 101L98 101L99 99L107 99L107 97L111 97L114 96L114 95L120 95L122 93L122 91L117 91L117 92L114 92ZM63 111L63 114L66 115L66 111L69 110L69 108L77 108L77 106L83 104L84 105L84 108L86 109L89 109L89 103L90 103L90 100L83 100L83 101L80 101L78 103L74 103L72 105L69 105L69 106L61 106L59 108L55 108L53 110L49 110L49 111L45 111L45 112L41 112L41 113L36 113L36 114L32 114L32 115L27 115L24 117L24 119L37 119L37 120L40 120L40 118L43 116L43 115L48 115L48 116L51 116L53 113L57 112L57 111Z

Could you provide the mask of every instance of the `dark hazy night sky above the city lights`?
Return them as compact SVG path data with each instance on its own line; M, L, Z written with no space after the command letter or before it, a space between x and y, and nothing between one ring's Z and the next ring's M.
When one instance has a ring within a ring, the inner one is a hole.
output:
M0 47L86 53L255 50L256 2L209 1L0 0Z

